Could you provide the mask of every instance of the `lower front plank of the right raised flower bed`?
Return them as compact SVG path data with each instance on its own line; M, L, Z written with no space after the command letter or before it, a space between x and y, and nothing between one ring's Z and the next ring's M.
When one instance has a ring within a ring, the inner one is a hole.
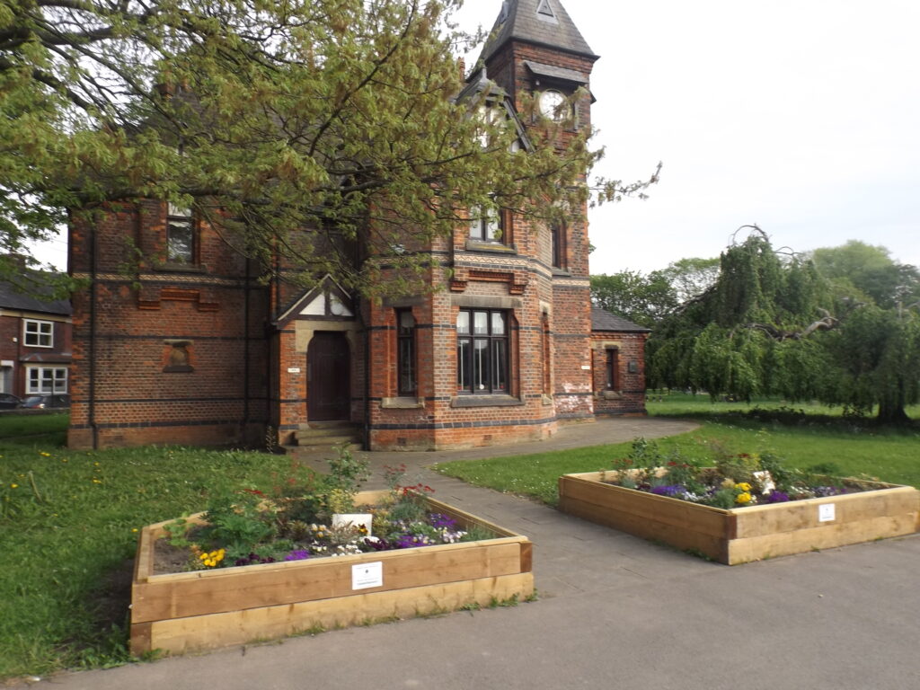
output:
M734 539L729 544L728 562L729 565L736 565L891 536L912 535L915 531L915 520L910 514L881 515L851 523L826 523L795 532Z

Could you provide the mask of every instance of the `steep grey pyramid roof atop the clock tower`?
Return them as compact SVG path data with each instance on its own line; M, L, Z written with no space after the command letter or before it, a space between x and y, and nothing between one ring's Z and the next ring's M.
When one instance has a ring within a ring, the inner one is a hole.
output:
M598 57L559 0L504 0L479 62L485 63L509 40L523 40L592 59Z

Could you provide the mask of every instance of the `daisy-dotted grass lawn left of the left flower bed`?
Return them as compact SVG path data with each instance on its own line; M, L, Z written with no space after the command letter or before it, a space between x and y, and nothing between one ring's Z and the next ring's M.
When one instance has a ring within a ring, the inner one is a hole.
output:
M0 415L0 680L127 661L136 531L215 489L270 487L282 455L74 452L67 415Z

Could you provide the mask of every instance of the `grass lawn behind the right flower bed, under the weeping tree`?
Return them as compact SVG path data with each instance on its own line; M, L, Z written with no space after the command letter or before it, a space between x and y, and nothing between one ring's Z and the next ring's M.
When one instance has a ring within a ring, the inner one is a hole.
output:
M920 424L905 429L879 428L846 420L839 410L760 400L712 404L706 396L672 395L648 405L650 414L700 422L697 431L659 440L665 450L680 445L703 460L699 442L718 442L736 452L769 448L788 466L834 466L846 476L878 477L893 484L920 486ZM763 410L758 412L756 410ZM753 410L753 411L752 411ZM920 408L908 409L914 420ZM549 505L558 502L559 475L609 468L629 452L629 443L598 445L556 453L442 463L434 467L450 477L498 491L529 496Z

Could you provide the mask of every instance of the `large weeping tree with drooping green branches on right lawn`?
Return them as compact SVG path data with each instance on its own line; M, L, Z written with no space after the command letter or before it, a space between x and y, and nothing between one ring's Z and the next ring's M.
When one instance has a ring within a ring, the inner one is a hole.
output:
M835 291L811 260L756 226L721 255L719 278L652 335L649 384L750 400L820 400L882 421L920 397L920 317Z

